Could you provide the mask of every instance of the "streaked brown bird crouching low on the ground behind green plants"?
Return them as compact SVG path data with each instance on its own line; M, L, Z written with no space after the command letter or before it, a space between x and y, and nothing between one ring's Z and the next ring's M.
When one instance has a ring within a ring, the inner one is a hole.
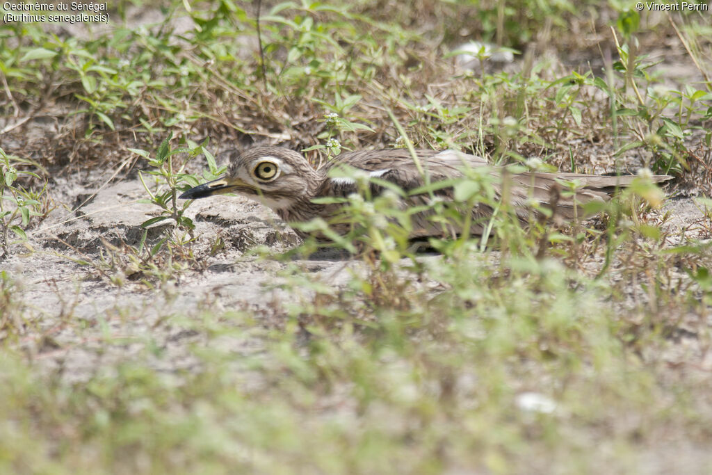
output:
M428 205L434 200L452 201L452 180L466 176L466 169L479 169L491 177L494 200L507 197L522 224L531 221L533 214L543 216L540 209L550 207L560 219L575 219L581 216L581 206L588 202L605 202L616 189L627 187L636 176L604 176L568 172L518 172L510 173L507 167L498 167L476 155L457 150L414 150L414 160L407 149L357 150L343 152L322 167L315 169L305 157L295 150L277 146L251 147L243 152L234 151L224 177L200 184L183 192L181 199L200 199L216 194L236 193L251 198L271 208L287 224L299 224L314 218L325 221L338 216L345 199L354 199L354 194L363 191L363 184L354 178L354 173L368 179L372 196L387 192L384 182L403 190L398 199L401 209L423 207L412 214L410 239L448 237L460 234L453 226L444 228L434 222ZM337 169L350 169L351 174ZM652 182L664 182L672 177L652 175ZM575 181L579 186L573 194L563 194L562 182ZM426 183L434 184L431 191L418 191ZM437 186L439 182L441 187ZM415 191L415 192L414 192ZM342 198L317 200L317 198ZM539 210L532 203L539 204ZM493 203L479 202L472 207L472 235L491 232L487 220L495 212ZM348 222L335 220L333 229L345 235L351 229ZM334 221L333 221L334 222ZM310 235L296 225L294 231L301 238ZM315 235L318 241L328 241L323 234Z

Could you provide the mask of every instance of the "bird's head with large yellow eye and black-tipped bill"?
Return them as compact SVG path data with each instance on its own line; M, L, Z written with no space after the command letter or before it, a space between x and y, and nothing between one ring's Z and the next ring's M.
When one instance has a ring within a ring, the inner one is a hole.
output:
M298 152L283 147L254 147L234 152L226 175L191 188L182 199L239 193L272 209L291 207L308 198L318 174Z

